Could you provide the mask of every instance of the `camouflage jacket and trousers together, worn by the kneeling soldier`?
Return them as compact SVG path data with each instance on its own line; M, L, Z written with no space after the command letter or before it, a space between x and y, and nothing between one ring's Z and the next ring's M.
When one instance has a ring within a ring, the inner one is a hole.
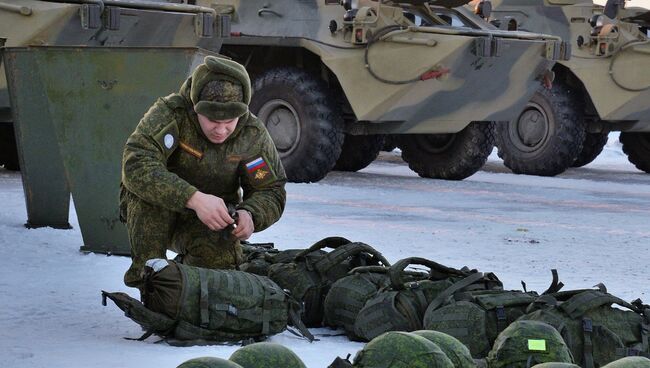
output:
M127 285L136 286L144 262L165 258L167 249L198 267L234 268L242 262L230 230L212 231L185 208L197 190L248 210L255 231L269 227L284 210L286 176L266 128L247 113L224 143L211 143L189 103L190 87L188 80L179 94L159 99L124 149L120 207L133 259ZM265 167L251 172L246 164L258 158Z

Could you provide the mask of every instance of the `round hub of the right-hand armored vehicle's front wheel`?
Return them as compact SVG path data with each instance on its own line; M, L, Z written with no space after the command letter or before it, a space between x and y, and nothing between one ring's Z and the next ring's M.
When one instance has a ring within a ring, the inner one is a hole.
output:
M549 121L541 106L529 103L516 124L510 124L509 135L521 151L533 152L543 147L549 135Z

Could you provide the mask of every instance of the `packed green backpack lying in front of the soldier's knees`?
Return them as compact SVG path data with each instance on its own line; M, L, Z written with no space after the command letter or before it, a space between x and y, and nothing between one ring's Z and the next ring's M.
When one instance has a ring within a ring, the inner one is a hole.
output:
M126 316L171 345L196 345L263 339L300 321L301 306L273 281L235 270L212 270L174 261L147 261L143 303L124 293L102 292Z

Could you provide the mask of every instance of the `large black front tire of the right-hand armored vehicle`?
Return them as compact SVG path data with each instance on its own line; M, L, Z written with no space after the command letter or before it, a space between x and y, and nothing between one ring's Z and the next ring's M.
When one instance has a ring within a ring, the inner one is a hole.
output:
M516 174L563 173L585 141L583 106L578 93L561 82L536 92L516 120L497 124L499 157Z

